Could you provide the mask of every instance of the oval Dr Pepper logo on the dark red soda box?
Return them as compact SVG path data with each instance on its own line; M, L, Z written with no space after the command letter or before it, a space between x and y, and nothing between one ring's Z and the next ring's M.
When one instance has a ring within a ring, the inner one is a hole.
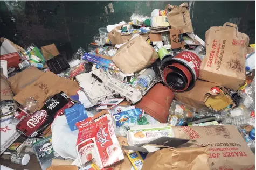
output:
M37 111L36 114L31 116L31 118L27 121L27 126L29 128L35 128L36 126L40 126L44 123L47 116L47 112L45 110Z

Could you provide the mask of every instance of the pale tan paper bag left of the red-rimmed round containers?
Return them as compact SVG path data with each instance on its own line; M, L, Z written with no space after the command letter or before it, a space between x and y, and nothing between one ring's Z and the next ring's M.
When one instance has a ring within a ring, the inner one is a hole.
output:
M112 57L115 65L124 73L134 73L151 65L159 56L140 35L121 46Z

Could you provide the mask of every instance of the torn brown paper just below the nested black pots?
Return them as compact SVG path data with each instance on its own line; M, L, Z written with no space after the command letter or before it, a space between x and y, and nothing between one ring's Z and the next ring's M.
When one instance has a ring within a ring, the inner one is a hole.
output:
M210 91L211 88L219 86L219 84L207 82L204 80L197 79L195 87L190 91L175 93L175 99L182 103L191 105L198 109L208 108L204 104L205 95Z

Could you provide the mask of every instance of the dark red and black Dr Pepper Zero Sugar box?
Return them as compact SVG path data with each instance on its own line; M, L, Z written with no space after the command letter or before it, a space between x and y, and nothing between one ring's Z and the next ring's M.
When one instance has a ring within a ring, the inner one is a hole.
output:
M72 102L68 96L61 91L54 95L50 100L46 101L41 110L25 117L20 121L16 128L28 137L37 136L48 125L50 125L56 116L64 114L64 109L72 107Z

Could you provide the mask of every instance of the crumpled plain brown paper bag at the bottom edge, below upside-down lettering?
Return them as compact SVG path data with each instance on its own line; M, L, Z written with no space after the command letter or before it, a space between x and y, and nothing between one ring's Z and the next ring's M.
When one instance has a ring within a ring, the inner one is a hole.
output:
M163 148L148 154L142 170L210 170L207 147Z

